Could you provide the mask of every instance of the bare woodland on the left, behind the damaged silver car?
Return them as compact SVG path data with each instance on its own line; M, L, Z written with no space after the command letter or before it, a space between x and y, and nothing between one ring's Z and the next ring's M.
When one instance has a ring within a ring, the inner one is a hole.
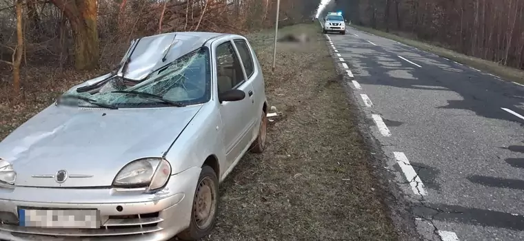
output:
M318 4L281 0L280 25L309 19ZM275 14L276 0L0 0L0 90L19 96L44 72L108 69L140 36L246 34L274 26Z

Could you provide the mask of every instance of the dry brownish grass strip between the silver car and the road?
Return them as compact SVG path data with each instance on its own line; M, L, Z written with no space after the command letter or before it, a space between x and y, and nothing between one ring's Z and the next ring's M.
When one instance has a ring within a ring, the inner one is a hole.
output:
M271 74L272 33L249 36L263 65L268 100L283 112L268 149L248 154L221 186L219 220L207 240L397 240L354 106L316 25L309 43L280 44Z

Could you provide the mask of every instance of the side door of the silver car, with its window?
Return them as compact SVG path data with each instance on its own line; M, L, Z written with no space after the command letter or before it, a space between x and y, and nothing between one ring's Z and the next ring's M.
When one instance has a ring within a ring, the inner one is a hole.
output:
M251 139L254 103L250 94L252 95L253 89L251 83L246 81L243 66L232 41L223 41L216 45L215 53L217 94L232 89L245 92L245 98L241 101L219 103L223 123L223 145L229 166L241 157Z

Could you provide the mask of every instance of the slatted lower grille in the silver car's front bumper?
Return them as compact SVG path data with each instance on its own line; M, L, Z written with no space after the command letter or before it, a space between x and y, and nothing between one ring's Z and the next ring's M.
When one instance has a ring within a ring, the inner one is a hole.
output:
M0 230L17 234L50 235L50 236L117 236L136 235L161 231L158 224L163 219L159 213L143 213L131 216L109 216L99 229L55 229L20 227L12 224L0 224Z

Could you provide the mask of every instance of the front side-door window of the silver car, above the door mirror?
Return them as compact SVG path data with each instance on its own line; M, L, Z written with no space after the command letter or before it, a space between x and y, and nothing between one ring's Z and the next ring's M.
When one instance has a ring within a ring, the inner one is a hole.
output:
M244 81L242 66L230 41L216 47L216 80L219 93L232 90Z

